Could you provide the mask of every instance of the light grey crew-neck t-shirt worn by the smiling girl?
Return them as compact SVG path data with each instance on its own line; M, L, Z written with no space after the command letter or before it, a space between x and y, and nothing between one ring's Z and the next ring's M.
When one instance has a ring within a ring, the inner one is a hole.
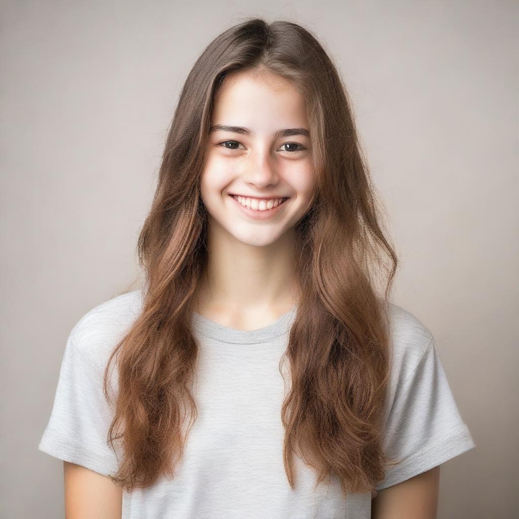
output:
M113 411L102 392L102 377L108 355L141 307L142 291L135 290L98 305L76 323L39 450L115 474L120 453L106 441ZM162 476L151 487L124 491L122 519L371 517L370 492L345 498L333 476L315 487L314 469L296 455L294 490L286 479L281 422L286 388L279 363L295 311L254 331L231 329L194 313L193 332L200 343L197 420L175 478ZM384 448L403 460L387 470L377 490L475 447L433 336L407 310L391 304L390 311L394 359ZM115 380L114 375L116 388Z

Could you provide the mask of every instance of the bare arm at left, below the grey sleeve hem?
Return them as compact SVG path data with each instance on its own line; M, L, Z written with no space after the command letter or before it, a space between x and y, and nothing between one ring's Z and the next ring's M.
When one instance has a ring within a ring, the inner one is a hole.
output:
M63 462L65 518L121 519L122 487L110 477L75 463Z

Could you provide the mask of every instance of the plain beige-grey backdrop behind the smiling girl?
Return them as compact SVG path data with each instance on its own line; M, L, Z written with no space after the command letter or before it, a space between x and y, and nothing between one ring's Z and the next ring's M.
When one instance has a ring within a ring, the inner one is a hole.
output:
M476 443L442 467L439 519L516 513L516 2L1 5L3 519L64 514L62 462L37 444L66 337L140 285L177 95L249 15L315 31L352 94L401 258L395 302L437 339Z

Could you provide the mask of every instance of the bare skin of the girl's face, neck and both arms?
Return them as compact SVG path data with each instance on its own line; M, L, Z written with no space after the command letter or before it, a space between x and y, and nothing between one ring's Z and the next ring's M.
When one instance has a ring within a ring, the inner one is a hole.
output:
M209 135L200 183L209 258L196 309L224 326L256 330L298 298L294 226L311 208L315 176L309 137L275 132L308 130L305 103L284 79L235 73L215 97L211 126L216 125L253 134L218 129ZM245 216L229 193L290 199L276 216L258 221ZM63 472L66 519L120 519L122 489L109 477L66 461ZM436 467L380 490L372 500L372 519L435 519L439 478Z

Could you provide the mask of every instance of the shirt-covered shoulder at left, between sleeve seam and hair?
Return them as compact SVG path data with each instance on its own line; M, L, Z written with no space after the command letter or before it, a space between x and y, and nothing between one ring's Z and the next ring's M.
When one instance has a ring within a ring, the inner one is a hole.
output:
M69 346L102 366L142 309L142 289L121 294L88 310L74 325Z

